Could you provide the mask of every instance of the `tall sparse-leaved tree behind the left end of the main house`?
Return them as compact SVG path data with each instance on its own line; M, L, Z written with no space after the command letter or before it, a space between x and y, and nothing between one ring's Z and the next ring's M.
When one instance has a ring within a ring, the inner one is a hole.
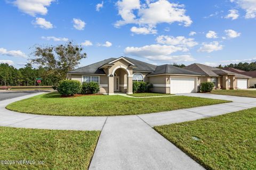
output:
M57 75L61 79L67 77L67 72L74 70L82 58L86 58L83 47L69 42L58 46L36 46L31 55L35 56L31 63L44 67L49 75Z

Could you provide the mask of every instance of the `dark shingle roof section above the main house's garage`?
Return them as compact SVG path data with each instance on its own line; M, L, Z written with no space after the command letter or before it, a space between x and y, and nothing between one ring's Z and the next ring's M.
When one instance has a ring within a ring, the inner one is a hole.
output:
M153 73L148 75L158 75L158 74L188 74L188 75L202 75L201 73L181 69L170 64L159 65Z

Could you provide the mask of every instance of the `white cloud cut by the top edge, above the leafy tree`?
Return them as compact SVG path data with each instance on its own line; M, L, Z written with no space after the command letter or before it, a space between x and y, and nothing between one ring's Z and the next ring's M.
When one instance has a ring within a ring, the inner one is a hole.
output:
M36 14L47 14L47 6L50 6L55 0L16 0L13 2L20 11L27 13L31 16Z

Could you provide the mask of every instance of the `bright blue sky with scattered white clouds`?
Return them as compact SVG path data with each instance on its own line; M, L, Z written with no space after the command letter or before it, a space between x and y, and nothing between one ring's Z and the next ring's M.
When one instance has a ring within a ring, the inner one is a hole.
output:
M0 62L15 67L35 44L67 40L84 46L80 66L120 56L157 65L256 61L255 0L6 0L0 15Z

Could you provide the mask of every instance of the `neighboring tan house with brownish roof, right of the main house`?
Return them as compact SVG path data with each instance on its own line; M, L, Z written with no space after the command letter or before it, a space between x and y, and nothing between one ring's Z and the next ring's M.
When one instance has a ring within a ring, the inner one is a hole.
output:
M184 69L204 75L199 77L198 84L202 82L213 82L216 89L247 89L249 87L249 76L204 64L191 64Z

